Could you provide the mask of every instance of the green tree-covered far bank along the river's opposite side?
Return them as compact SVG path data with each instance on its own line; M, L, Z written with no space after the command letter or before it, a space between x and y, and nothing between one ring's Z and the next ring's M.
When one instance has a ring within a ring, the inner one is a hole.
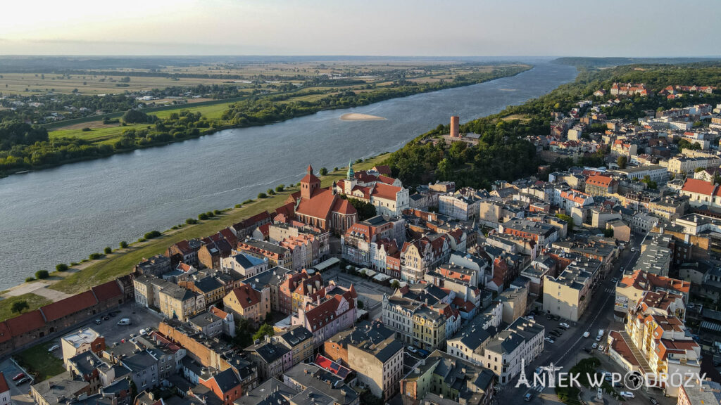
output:
M239 110L235 111L234 108L237 106L236 102L224 104L222 100L218 100L220 101L219 103L216 103L216 100L213 100L213 107L217 108L218 105L225 106L226 110L231 112L232 118L229 118L228 120L225 120L223 117L217 117L212 120L206 119L207 122L204 125L190 125L187 126L187 128L175 128L172 135L169 132L159 132L156 130L156 126L143 124L140 127L147 127L142 129L147 132L147 135L142 135L137 140L133 138L131 146L128 146L127 142L120 142L123 138L122 133L118 133L110 139L101 137L94 141L92 136L88 137L88 134L84 133L82 129L76 130L73 133L74 136L68 135L66 138L55 139L50 137L50 141L43 143L42 148L25 146L23 148L25 151L24 153L13 152L14 154L9 156L7 159L0 159L0 167L4 167L4 169L0 171L0 177L6 177L9 174L18 172L27 172L28 170L49 169L77 161L105 158L113 156L116 153L125 153L142 148L167 146L170 143L177 143L187 141L189 139L200 138L205 135L211 135L218 132L218 130L270 125L297 117L313 115L325 110L362 107L389 99L408 97L415 94L425 94L428 92L438 92L444 89L472 86L474 84L481 84L487 81L516 76L524 71L531 70L533 67L534 66L531 64L500 66L494 68L489 73L474 74L471 77L458 76L455 80L445 82L441 81L435 84L404 85L377 90L373 89L367 92L357 93L328 93L322 99L311 102L304 101L298 105L293 104L293 92L270 94L267 97L260 97L260 99L257 100L257 104L254 104L256 102L252 102L252 100L246 100L246 102L249 102L250 104L244 105L239 108ZM270 103L274 108L269 109L264 103ZM256 110L258 105L261 105L263 110ZM193 106L187 105L170 108L158 107L158 109L162 110L165 115L169 115L169 112L175 112L176 110L177 112L180 112L182 110L192 110L193 108ZM238 115L242 115L242 117L237 118ZM162 121L163 120L161 119L161 122ZM138 127L138 129L140 127ZM172 128L172 125L170 125L170 127ZM167 129L165 131L167 131ZM97 132L102 133L103 130L99 129ZM58 143L54 143L53 141L57 141ZM72 148L68 148L68 146L63 145L60 141L63 141L64 143L67 143L68 141L75 141L77 145ZM32 157L32 159L29 159L30 157ZM13 163L9 163L10 161Z

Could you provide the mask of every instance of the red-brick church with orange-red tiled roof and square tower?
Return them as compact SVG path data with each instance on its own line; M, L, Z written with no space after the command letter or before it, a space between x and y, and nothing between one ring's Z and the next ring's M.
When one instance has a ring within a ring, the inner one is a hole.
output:
M343 233L358 221L358 213L348 200L336 195L332 187L320 187L320 179L310 165L301 180L301 191L289 198L295 203L296 219L307 225Z

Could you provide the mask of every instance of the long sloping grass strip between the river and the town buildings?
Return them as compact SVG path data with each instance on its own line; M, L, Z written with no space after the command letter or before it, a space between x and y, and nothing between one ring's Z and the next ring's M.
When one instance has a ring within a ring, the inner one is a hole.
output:
M361 164L354 164L355 169L370 169L376 164L386 159L385 154L368 159ZM321 178L323 187L329 187L332 182L345 177L345 169L338 169L337 172L331 172ZM50 285L53 290L63 291L63 293L80 293L88 290L94 285L102 284L109 280L126 275L132 271L133 266L140 262L143 257L151 257L155 254L162 254L168 246L182 241L183 239L201 238L220 231L227 226L240 222L251 215L260 213L263 210L272 211L283 205L283 201L288 198L291 192L298 190L298 187L288 188L277 195L270 196L262 200L255 200L253 203L243 205L242 208L232 208L221 215L199 221L195 225L185 225L180 229L165 231L162 236L145 242L131 244L128 249L123 252L108 254L106 257L89 262L87 267L77 270L74 273L63 275L63 280Z

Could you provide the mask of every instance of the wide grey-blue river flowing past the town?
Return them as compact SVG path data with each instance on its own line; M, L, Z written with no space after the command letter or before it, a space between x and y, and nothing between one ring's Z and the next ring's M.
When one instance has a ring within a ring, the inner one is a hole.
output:
M37 270L79 262L198 213L231 207L277 184L298 182L308 164L395 151L448 123L494 114L575 78L575 68L533 61L530 71L473 86L318 112L262 127L0 179L0 290ZM357 112L386 120L345 121Z

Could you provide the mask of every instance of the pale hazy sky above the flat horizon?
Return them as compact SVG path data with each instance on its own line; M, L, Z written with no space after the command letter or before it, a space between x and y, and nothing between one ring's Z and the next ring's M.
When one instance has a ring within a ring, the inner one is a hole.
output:
M720 21L720 0L4 0L0 55L718 56Z

